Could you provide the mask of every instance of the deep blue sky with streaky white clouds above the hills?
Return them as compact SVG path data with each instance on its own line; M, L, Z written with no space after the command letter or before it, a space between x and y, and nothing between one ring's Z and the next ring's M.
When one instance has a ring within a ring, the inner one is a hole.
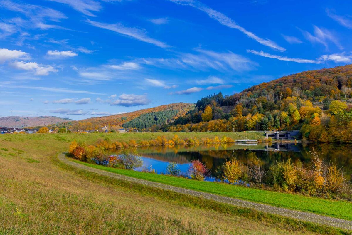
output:
M352 63L352 1L0 0L0 117L80 120Z

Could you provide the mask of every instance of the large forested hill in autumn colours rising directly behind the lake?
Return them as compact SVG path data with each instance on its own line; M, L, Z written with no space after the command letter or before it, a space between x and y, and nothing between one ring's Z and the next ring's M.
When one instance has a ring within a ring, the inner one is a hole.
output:
M297 73L240 93L208 95L163 131L300 130L321 142L352 142L352 65Z

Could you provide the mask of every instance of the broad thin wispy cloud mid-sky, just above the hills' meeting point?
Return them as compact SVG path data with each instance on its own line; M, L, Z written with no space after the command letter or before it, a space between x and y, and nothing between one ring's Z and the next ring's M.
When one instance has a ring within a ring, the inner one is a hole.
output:
M168 67L187 70L206 71L209 68L224 71L249 71L257 65L250 59L234 54L232 51L215 52L211 50L195 49L198 54L183 53L178 58L142 58L140 63L157 67Z

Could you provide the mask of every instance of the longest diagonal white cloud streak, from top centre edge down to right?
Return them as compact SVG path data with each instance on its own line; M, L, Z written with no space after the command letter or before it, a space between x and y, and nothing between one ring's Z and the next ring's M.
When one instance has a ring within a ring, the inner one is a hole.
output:
M197 8L198 10L201 10L201 11L207 13L210 18L217 20L220 24L225 25L225 26L232 28L232 29L237 29L237 30L243 32L249 38L254 39L255 41L257 41L258 43L260 43L262 45L265 45L267 47L271 47L271 48L276 49L278 51L285 51L286 50L285 48L280 47L275 42L271 41L270 39L260 38L256 34L254 34L253 32L247 31L244 27L241 27L237 23L235 23L231 18L225 16L221 12L218 12L218 11L208 7L207 5L203 4L200 1L197 1L197 0L169 0L169 1L175 2L177 4L181 4L181 5L188 5L188 6Z

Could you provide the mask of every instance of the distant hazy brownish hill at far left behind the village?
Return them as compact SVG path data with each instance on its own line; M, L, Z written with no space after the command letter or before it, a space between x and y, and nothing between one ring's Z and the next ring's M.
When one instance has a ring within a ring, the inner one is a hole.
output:
M67 122L68 118L59 118L51 116L40 117L2 117L0 118L1 127L24 128L29 126L46 126L55 123Z

